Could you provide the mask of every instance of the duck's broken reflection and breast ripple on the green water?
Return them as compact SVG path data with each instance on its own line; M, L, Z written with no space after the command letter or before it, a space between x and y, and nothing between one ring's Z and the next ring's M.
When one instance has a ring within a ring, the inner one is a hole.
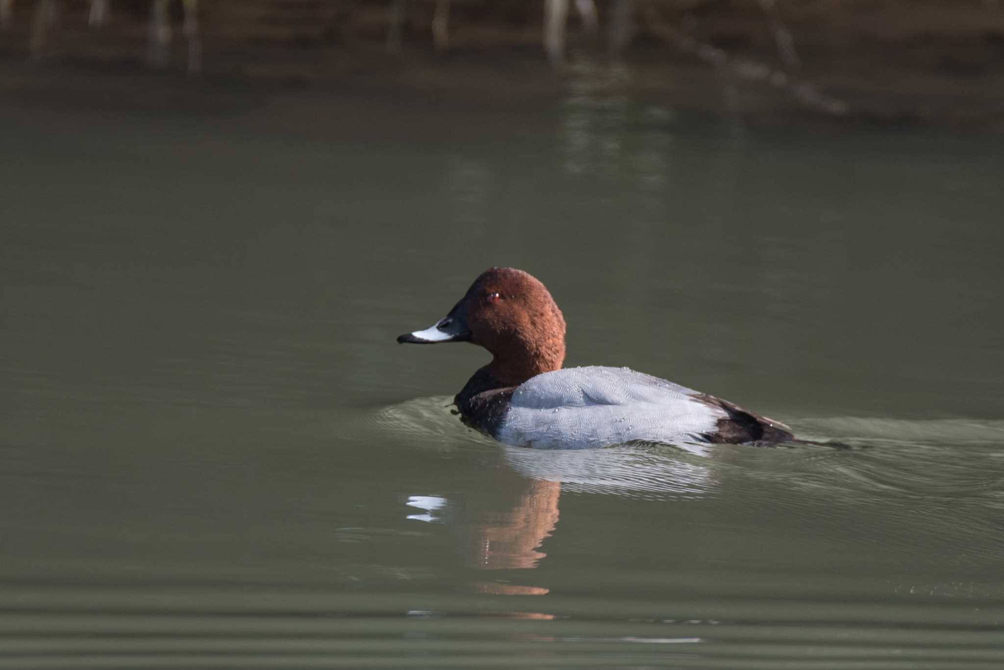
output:
M463 563L469 569L502 571L498 573L499 579L473 581L474 591L481 594L549 593L549 589L539 584L518 583L524 580L514 583L513 575L504 571L532 570L547 557L547 537L559 532L562 490L668 501L696 500L716 494L725 474L723 466L730 460L728 450L709 444L550 450L510 447L485 440L479 450L462 450L456 445L462 444L466 430L444 410L451 401L448 397L416 399L385 408L367 417L367 421L386 427L395 435L408 432L420 445L453 452L461 459L478 460L476 475L470 480L472 488L454 489L449 497L411 495L405 502L411 507L408 518L445 523L456 532ZM486 467L486 456L498 467ZM526 612L506 613L506 616L550 618Z

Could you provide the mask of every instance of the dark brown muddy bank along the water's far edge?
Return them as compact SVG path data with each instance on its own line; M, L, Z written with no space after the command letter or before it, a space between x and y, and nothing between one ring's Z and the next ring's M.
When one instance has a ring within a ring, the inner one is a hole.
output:
M544 55L539 22L459 10L449 49L437 50L427 34L429 17L419 11L425 3L418 4L400 45L389 49L383 4L361 3L365 11L338 18L337 30L301 16L299 23L273 21L264 31L254 22L235 29L225 15L233 7L221 3L215 15L206 10L200 73L189 76L179 35L163 67L147 62L139 8L90 30L67 7L44 48L33 51L30 8L22 3L0 41L0 86L8 99L84 105L170 82L188 91L182 95L221 86L423 91L443 103L504 108L547 103L588 80L685 111L752 121L1004 130L1004 7L992 3L790 3L780 16L795 60L778 48L755 3L705 8L697 2L689 14L657 3L640 10L634 37L618 53L602 35L569 24L565 58L557 64Z

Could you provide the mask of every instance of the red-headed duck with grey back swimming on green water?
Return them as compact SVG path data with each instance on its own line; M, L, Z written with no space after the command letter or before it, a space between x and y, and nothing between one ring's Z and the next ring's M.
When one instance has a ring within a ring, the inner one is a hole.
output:
M446 316L400 344L469 343L492 361L454 397L455 413L499 442L537 449L629 443L772 444L788 426L734 403L629 368L562 368L565 320L529 272L482 272Z

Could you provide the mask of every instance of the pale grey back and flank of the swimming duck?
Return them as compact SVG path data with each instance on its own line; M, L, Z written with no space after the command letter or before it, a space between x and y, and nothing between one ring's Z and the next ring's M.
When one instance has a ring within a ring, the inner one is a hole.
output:
M699 440L715 430L725 413L696 395L628 368L556 370L516 388L496 437L543 449Z

